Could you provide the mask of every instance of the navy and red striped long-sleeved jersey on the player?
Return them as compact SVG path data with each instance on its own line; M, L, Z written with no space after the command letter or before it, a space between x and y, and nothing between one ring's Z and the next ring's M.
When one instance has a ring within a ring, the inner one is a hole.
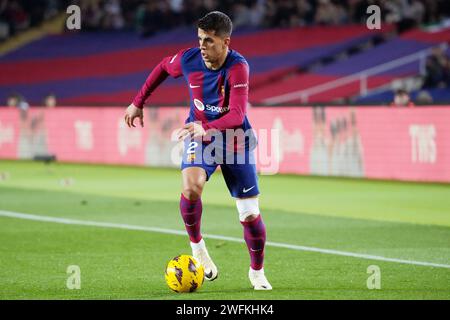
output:
M201 121L205 130L251 128L246 116L249 66L245 58L229 50L218 70L208 69L199 48L185 49L164 58L150 73L133 100L142 108L151 93L168 77L184 76L189 87L187 122Z

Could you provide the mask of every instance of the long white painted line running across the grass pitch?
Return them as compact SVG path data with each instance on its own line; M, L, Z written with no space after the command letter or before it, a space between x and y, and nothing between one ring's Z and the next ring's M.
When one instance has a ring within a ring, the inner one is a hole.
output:
M111 222L98 222L98 221L89 221L89 220L57 218L57 217L41 216L41 215L3 211L3 210L0 210L0 216L9 217L9 218L17 218L17 219L25 219L25 220L41 221L41 222L53 222L53 223L90 226L90 227L102 227L102 228L115 228L115 229L125 229L125 230L158 232L158 233L186 236L186 231L179 231L179 230L172 230L172 229L135 226L135 225L130 225L130 224L111 223ZM221 236L221 235L203 234L203 236L205 238L209 238L209 239L225 240L225 241L231 241L231 242L244 242L244 240L240 239L240 238L227 237L227 236ZM319 253L324 253L324 254L332 254L332 255L337 255L337 256L346 256L346 257L353 257L353 258L360 258L360 259L378 260L378 261L411 264L411 265L424 266L424 267L436 267L436 268L450 269L450 265L448 265L448 264L432 263L432 262L426 262L426 261L387 258L387 257L374 256L374 255L369 255L369 254L339 251L339 250L333 250L333 249L306 247L306 246L299 246L299 245L294 245L294 244L271 242L271 241L266 242L266 245L271 246L271 247L286 248L286 249L292 249L292 250L297 250L297 251L319 252Z

